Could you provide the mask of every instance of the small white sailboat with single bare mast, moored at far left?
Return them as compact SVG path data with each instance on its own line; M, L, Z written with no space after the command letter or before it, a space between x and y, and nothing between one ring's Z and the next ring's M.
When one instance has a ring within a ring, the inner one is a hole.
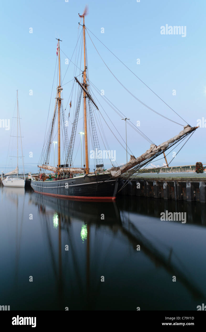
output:
M2 183L5 187L25 187L25 174L24 174L24 157L23 157L23 150L22 150L22 136L21 136L21 125L20 125L20 117L19 117L19 100L18 100L18 90L17 90L17 97L16 97L16 126L17 126L17 136L10 136L15 137L16 139L16 156L9 156L9 158L17 158L16 159L16 168L13 171L6 172L3 176ZM20 136L19 136L20 135ZM20 140L19 140L20 138ZM19 155L19 141L21 146L21 155ZM10 149L9 149L10 150ZM10 152L8 150L8 152ZM23 176L19 176L19 158L22 159L22 166L23 166ZM10 159L11 160L11 159Z

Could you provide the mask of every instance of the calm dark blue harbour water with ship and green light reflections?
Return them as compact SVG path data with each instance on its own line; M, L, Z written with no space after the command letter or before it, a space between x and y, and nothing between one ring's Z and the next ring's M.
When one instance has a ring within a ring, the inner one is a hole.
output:
M161 221L165 210L186 212L186 223ZM205 204L78 202L0 187L0 211L0 304L10 310L206 304Z

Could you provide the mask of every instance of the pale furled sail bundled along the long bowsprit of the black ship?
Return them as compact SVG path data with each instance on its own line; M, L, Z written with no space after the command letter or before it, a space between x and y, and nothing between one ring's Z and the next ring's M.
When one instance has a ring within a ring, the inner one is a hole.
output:
M187 136L189 133L192 131L196 130L197 127L191 127L189 125L184 126L184 129L179 132L178 135L170 138L164 143L161 143L160 145L156 146L155 144L151 144L150 148L143 153L140 157L135 158L134 156L131 156L130 160L128 163L118 166L118 167L111 167L107 169L107 172L110 172L112 177L118 178L120 177L123 173L126 173L127 171L131 170L135 166L140 165L141 167L146 165L150 160L153 160L156 158L158 155L163 153L165 150L170 148L172 145L176 144L179 140ZM136 171L136 168L135 170ZM130 174L131 175L131 174Z

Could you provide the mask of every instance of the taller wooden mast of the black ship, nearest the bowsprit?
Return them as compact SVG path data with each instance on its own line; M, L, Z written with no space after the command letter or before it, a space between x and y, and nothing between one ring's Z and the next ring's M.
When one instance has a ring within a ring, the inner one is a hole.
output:
M85 52L85 24L83 16L83 33L84 33L84 87L87 89L87 80L86 80L86 52ZM86 162L86 174L89 173L89 159L88 159L88 137L87 137L87 106L86 106L86 92L83 91L84 98L84 140L85 140L85 162Z

